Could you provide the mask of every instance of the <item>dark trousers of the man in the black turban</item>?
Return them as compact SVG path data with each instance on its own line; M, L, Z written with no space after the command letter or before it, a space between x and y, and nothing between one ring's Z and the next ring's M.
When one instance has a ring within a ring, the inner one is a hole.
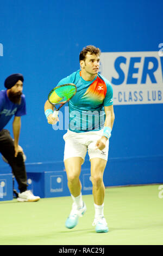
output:
M0 152L4 158L8 160L8 163L11 166L12 173L18 183L20 193L26 191L28 185L26 166L24 164L23 156L22 153L18 153L17 157L15 157L14 141L7 129L3 129L0 132Z

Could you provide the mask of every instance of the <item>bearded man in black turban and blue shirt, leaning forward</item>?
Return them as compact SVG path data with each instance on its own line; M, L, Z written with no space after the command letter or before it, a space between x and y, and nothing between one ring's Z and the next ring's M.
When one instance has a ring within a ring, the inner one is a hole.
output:
M7 90L0 91L0 152L3 159L9 163L18 183L17 201L38 201L30 190L27 190L27 174L24 164L24 153L18 145L21 129L21 116L26 115L26 100L23 90L23 75L12 74L5 79L4 86ZM12 123L14 140L7 129L3 129L14 116Z

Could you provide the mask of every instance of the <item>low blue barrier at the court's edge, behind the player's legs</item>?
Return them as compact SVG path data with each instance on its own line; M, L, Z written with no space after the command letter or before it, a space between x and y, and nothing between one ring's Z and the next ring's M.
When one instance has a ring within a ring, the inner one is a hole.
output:
M26 170L28 189L32 190L35 195L39 195L41 198L70 196L63 162L27 163ZM1 172L3 172L1 174L3 178L3 175L10 178L9 181L7 180L10 186L7 187L11 190L12 175L10 167L7 164L2 166ZM86 160L82 165L80 181L82 183L82 194L92 194L89 160ZM110 158L108 160L104 171L105 187L152 183L163 183L163 156ZM16 180L14 181L14 188L18 192ZM4 197L3 200L11 200L11 194L10 197Z

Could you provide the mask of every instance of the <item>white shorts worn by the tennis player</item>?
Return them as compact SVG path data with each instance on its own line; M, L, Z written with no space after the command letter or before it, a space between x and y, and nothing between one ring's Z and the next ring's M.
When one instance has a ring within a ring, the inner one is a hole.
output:
M63 136L65 140L64 160L71 157L82 157L84 163L87 152L90 159L102 158L108 160L109 140L106 141L106 146L102 151L95 149L96 142L102 134L103 129L85 133L74 133L67 130L67 133Z

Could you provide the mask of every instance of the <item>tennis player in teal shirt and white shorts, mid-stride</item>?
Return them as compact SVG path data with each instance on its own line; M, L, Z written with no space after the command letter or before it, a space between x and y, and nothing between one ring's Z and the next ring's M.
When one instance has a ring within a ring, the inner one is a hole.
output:
M97 233L108 232L104 218L105 187L103 174L108 160L109 138L114 123L113 93L108 80L98 74L100 50L86 46L79 55L80 68L62 79L58 85L73 83L77 93L69 102L69 129L64 135L64 163L68 188L73 199L72 210L66 220L66 227L72 229L86 211L82 199L82 185L79 180L81 166L86 152L91 162L91 181L95 205L93 225ZM45 103L48 123L53 124L53 106Z

